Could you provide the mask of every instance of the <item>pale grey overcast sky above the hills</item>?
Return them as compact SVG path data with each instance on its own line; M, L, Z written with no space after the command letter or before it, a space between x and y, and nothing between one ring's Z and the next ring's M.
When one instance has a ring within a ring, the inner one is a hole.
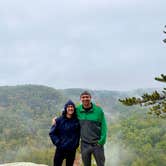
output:
M162 87L165 0L1 0L0 85Z

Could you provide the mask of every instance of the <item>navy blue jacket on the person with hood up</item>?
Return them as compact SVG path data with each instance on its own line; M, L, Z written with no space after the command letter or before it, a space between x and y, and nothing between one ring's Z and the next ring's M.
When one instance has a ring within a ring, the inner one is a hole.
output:
M62 115L49 132L53 144L63 150L75 150L79 146L80 124L77 118Z

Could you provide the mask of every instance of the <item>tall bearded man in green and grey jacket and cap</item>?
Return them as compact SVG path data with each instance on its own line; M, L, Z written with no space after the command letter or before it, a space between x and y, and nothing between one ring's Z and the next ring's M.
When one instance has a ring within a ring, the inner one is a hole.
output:
M103 145L106 142L107 125L101 107L91 102L91 94L84 91L80 95L82 104L77 107L77 116L81 126L81 155L84 166L91 166L94 155L97 166L104 166Z

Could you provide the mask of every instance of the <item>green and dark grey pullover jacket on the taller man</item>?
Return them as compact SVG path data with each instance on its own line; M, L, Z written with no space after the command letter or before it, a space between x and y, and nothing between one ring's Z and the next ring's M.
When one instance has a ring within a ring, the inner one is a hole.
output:
M81 140L90 144L104 145L107 125L101 107L92 103L92 109L84 110L82 104L77 107L77 116L81 126Z

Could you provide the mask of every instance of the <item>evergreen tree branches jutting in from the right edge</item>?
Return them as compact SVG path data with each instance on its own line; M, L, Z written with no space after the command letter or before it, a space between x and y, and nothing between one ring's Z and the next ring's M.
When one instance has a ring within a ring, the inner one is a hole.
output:
M155 80L166 83L166 75L156 77ZM155 114L159 117L166 118L166 88L161 93L154 91L151 94L145 93L141 97L131 97L119 99L119 101L127 106L141 105L149 107L149 114Z

